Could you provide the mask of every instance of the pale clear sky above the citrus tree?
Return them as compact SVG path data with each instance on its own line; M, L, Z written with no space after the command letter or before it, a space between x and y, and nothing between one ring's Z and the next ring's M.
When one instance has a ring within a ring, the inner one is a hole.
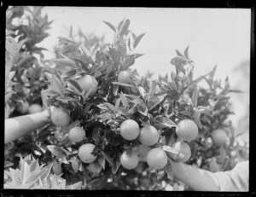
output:
M147 70L160 74L171 72L170 61L176 55L175 49L183 52L189 45L189 57L195 61L195 78L218 65L216 77L224 80L228 75L234 86L240 83L234 68L250 59L250 9L44 7L43 13L54 20L49 38L40 44L50 50L57 43L57 37L67 36L70 26L98 36L105 33L105 40L111 43L113 31L103 20L117 26L124 17L130 19L133 32L146 33L136 49L145 55L132 67L141 74ZM45 53L45 57L51 58L52 53ZM249 78L245 81L245 85L248 84ZM248 87L240 89L247 91L243 99L248 101ZM238 102L236 96L233 101ZM233 118L235 120L248 113L244 103L239 106L236 109L240 116Z

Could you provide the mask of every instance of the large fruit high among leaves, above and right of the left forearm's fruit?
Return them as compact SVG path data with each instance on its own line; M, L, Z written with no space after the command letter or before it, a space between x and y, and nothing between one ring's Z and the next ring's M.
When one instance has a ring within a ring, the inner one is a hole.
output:
M90 91L89 96L93 96L98 89L96 78L88 74L84 75L82 78L79 78L79 85L82 90L85 90L85 94Z

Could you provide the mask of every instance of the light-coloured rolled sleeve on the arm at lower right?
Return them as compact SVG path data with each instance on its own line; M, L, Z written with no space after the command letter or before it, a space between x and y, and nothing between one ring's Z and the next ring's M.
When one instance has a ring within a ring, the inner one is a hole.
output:
M248 191L249 161L238 163L231 171L215 172L220 191Z

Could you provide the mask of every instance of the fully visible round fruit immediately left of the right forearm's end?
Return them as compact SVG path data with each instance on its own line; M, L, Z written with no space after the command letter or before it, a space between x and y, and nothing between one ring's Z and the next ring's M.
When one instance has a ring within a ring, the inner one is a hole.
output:
M147 163L154 169L162 169L167 164L166 152L161 148L153 148L148 152Z

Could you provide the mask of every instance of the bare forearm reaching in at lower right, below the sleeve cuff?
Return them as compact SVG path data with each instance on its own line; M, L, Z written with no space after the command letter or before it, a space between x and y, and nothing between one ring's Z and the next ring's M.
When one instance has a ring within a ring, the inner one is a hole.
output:
M172 167L174 177L196 191L219 191L220 189L211 171L177 162L172 162Z

